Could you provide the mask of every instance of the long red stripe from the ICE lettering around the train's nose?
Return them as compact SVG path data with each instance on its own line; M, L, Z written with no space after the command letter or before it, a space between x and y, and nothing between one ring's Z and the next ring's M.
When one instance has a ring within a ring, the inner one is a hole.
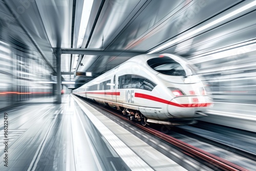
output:
M166 103L166 104L170 104L170 105L174 105L174 106L178 106L181 108L193 108L193 107L206 107L211 105L212 103L191 103L191 104L178 104L172 101L168 101L168 100L164 100L155 96L151 96L151 95L147 95L147 94L142 94L142 93L135 93L134 95L135 97L138 98L144 98L144 99L148 99L148 100L153 100L153 101L157 101L157 102L161 102L161 103Z

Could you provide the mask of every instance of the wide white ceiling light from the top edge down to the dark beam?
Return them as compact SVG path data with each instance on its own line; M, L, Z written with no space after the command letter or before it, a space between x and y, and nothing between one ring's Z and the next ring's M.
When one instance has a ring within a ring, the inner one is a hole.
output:
M88 25L89 17L91 14L93 6L93 0L84 0L83 7L82 7L82 17L80 22L78 40L77 40L77 48L81 48L84 34L86 34L86 28Z

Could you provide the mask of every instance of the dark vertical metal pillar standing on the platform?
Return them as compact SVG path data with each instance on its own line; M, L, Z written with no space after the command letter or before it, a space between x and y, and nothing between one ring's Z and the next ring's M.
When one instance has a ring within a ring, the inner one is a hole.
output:
M56 48L56 57L57 57L57 103L61 103L61 49Z

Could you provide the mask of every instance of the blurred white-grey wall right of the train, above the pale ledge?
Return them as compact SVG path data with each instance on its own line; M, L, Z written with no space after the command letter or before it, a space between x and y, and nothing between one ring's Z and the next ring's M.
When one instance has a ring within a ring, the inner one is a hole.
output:
M256 44L207 54L191 62L201 65L215 101L254 104L256 93ZM201 61L201 62L199 62Z

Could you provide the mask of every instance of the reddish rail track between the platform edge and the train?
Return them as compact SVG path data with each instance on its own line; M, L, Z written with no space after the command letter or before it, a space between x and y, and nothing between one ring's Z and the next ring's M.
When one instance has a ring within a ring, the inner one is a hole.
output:
M88 101L86 101L86 102L88 102ZM183 154L190 156L191 158L195 159L196 161L199 161L200 163L204 164L205 166L207 166L208 168L210 168L212 170L250 170L250 169L247 169L245 167L241 167L237 164L234 164L232 162L229 162L228 160L225 160L222 157L212 155L212 154L210 154L210 153L208 153L208 152L206 152L206 151L204 151L204 150L202 150L198 147L195 147L195 146L190 145L190 144L188 144L184 141L181 141L177 138L169 136L166 133L163 133L163 132L161 132L157 129L154 129L154 128L149 127L149 126L144 127L139 123L131 121L131 120L127 119L126 117L123 117L122 115L120 115L117 112L106 109L106 108L104 108L100 105L96 105L95 103L90 102L90 104L92 106L94 106L95 109L100 108L103 111L111 113L112 115L114 115L118 118L121 118L121 119L129 122L130 124L138 127L140 130L161 139L165 143L168 143L168 144L171 144L172 146L175 146ZM97 106L97 108L95 107L95 105ZM230 148L230 149L232 149L232 148Z

